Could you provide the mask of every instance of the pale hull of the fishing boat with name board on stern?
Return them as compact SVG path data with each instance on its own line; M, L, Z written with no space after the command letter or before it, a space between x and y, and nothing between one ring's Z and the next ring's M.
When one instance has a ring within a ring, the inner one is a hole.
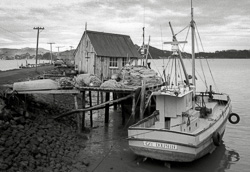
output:
M229 107L229 106L228 106ZM129 129L129 146L137 155L162 161L191 162L212 153L218 145L214 143L213 134L224 135L230 108L226 108L220 119L209 129L196 135L171 131L144 130L143 136L135 128ZM134 130L134 132L133 132ZM135 132L141 137L133 137ZM151 135L148 135L148 133ZM154 138L155 136L155 138ZM182 138L182 140L181 140Z

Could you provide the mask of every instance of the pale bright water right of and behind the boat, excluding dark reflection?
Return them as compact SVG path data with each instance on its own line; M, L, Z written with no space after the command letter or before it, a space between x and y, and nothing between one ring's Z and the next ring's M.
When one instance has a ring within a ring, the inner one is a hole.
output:
M152 62L153 67L160 67L163 61ZM187 64L187 70L190 71L190 63ZM202 60L206 64L205 60ZM196 61L197 70L199 71L200 62ZM250 157L250 59L216 59L209 60L210 68L216 81L219 92L230 95L233 105L233 112L240 115L241 120L238 124L227 123L226 133L224 135L225 153L222 156L221 163L227 164L224 171L249 171ZM205 73L209 70L205 67ZM188 72L189 73L189 72ZM190 72L191 73L191 72ZM202 74L200 72L200 74ZM199 78L198 78L199 81ZM198 82L197 81L197 82ZM212 81L211 77L208 81ZM209 83L209 82L208 82ZM212 82L211 82L212 83ZM214 86L213 86L214 87ZM202 84L198 89L205 88ZM236 159L236 157L238 159ZM236 161L236 162L235 162ZM218 166L218 169L219 166ZM220 169L223 171L223 168ZM215 169L215 171L220 171Z

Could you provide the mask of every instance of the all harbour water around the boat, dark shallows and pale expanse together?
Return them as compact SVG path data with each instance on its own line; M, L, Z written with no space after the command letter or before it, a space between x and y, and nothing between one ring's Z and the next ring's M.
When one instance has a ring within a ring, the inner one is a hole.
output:
M204 63L205 60L203 59ZM185 61L187 72L190 63ZM153 69L162 70L162 60L151 63ZM98 114L99 121L94 122L87 147L82 150L90 159L89 171L140 171L140 172L248 172L250 169L250 59L218 59L209 60L214 80L217 81L219 92L228 93L232 99L233 111L241 120L238 124L227 123L223 144L212 154L191 163L172 163L171 168L164 167L162 161L138 159L128 147L127 130L121 125L121 112L110 113L110 123L103 124L103 113ZM199 62L197 62L197 70ZM207 68L204 68L209 73ZM199 82L199 78L198 81ZM208 78L208 81L212 79ZM215 87L215 86L214 86ZM198 84L198 90L204 88ZM111 110L111 109L110 109Z

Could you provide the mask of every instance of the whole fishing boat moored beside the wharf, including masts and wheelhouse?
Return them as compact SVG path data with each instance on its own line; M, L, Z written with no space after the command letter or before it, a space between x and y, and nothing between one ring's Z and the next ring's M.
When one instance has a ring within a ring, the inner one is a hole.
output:
M171 23L169 25L173 35L171 58L175 71L166 77L166 85L151 94L156 100L156 110L128 128L128 143L136 155L163 161L191 162L220 146L227 120L236 124L240 118L232 112L229 95L214 92L212 86L204 92L196 91L192 5L192 76L186 72L179 49L179 44L186 41L178 42ZM183 80L177 72L178 61Z

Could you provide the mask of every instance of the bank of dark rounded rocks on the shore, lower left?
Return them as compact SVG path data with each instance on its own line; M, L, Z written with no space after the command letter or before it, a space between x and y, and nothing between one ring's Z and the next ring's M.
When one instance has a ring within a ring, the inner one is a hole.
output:
M87 137L77 136L73 120L55 121L49 117L62 109L29 104L25 113L0 98L0 171L86 171L88 160L78 157Z

